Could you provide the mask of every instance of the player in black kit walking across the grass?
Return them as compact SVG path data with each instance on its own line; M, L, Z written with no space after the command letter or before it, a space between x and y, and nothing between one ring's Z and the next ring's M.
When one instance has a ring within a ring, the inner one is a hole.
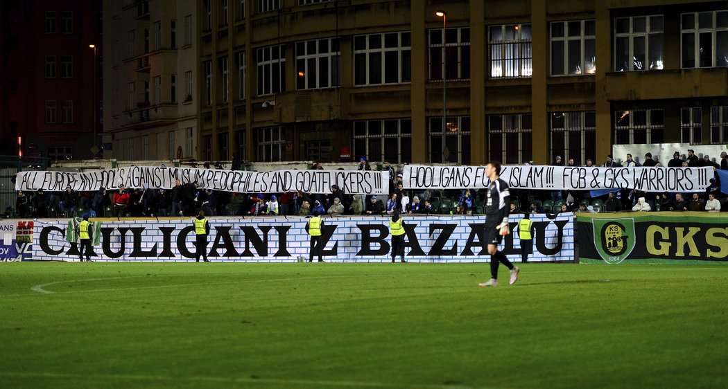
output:
M500 179L501 165L499 161L490 161L486 165L486 177L491 181L486 188L486 230L485 238L488 241L488 254L491 254L491 279L478 284L478 286L498 286L498 265L502 262L510 269L510 284L518 280L518 266L498 251L503 236L508 235L508 206L510 193L508 184Z

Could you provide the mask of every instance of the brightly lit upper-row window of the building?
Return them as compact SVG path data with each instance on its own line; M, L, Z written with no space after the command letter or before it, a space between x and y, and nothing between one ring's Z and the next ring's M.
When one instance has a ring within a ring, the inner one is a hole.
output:
M531 25L488 26L488 64L493 79L531 76Z

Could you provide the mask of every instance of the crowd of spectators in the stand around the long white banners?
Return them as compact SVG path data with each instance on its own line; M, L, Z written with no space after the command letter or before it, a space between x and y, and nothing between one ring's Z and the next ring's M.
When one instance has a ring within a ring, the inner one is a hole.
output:
M553 165L563 166L561 156L556 157ZM566 166L576 166L574 159L569 159ZM593 167L593 160L587 159L585 166ZM627 154L624 164L608 155L601 166L619 168L640 165L631 154ZM641 166L661 165L652 159L650 153L646 153ZM694 151L688 150L685 159L675 152L668 166L712 166L728 170L728 157L725 152L721 153L720 164L717 164L708 156L700 159ZM209 165L205 167L209 168ZM221 169L221 166L216 164L215 168ZM240 163L237 168L240 169ZM323 169L321 164L314 164L312 168ZM373 167L368 159L362 157L357 169L372 170ZM176 180L170 190L148 188L146 185L127 189L120 185L119 188L100 188L97 192L82 193L77 193L70 186L61 193L49 194L41 189L32 193L33 196L19 191L15 209L20 217L70 216L82 212L93 212L92 215L98 217L194 216L200 210L208 216L307 216L315 211L332 216L386 216L393 214L395 209L402 214L478 214L484 210L483 191L408 191L403 188L402 175L397 175L392 164L384 161L381 169L389 173L389 196L344 193L337 185L331 186L331 193L227 193L199 188L197 182L181 183ZM622 189L592 197L590 191L512 189L510 212L719 212L728 211L728 206L723 204L726 201L724 197L716 174L704 193L645 193Z

